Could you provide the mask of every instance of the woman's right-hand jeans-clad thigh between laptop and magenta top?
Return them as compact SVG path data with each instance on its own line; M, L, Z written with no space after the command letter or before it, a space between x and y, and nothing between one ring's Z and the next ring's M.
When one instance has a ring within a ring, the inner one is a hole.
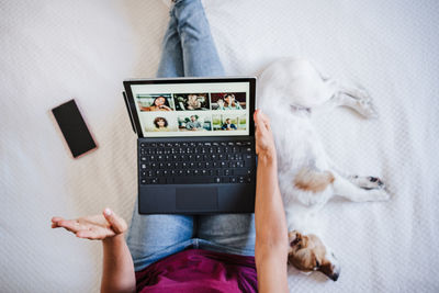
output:
M213 246L222 252L255 255L255 214L200 216L196 234L207 249Z

